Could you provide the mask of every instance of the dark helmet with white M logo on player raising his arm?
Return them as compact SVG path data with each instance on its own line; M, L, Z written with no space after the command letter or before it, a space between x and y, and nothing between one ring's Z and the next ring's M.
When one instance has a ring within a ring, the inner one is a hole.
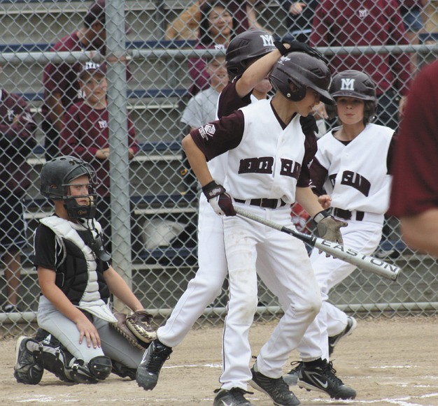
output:
M260 58L275 49L274 38L262 29L249 29L235 36L225 55L229 77L241 75L251 59Z

